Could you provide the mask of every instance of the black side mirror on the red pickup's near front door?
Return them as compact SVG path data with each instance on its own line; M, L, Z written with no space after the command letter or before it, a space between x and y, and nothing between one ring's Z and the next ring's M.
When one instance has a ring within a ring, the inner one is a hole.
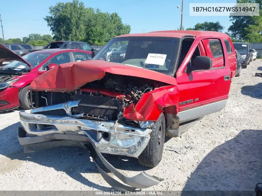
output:
M193 61L193 66L187 67L187 72L193 70L208 70L212 67L212 59L208 56L197 56Z

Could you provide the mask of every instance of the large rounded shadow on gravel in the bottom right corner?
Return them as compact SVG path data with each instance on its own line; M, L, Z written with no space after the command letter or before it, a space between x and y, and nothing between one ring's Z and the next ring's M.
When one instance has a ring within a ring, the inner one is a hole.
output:
M183 190L252 190L262 182L262 130L242 130L199 163ZM254 192L255 193L255 192Z

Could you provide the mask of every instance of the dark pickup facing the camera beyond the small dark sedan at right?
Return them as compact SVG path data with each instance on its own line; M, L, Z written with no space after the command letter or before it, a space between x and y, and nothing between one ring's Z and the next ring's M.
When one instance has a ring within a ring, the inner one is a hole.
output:
M247 65L249 65L252 59L252 49L250 48L249 43L235 42L233 45L243 59L243 68L247 68Z

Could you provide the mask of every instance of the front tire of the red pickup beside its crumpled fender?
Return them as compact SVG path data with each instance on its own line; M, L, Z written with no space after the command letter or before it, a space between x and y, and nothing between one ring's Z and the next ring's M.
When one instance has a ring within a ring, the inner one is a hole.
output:
M151 137L144 151L139 155L138 162L146 167L154 168L160 163L163 154L166 120L164 114L158 118L158 121L151 128Z

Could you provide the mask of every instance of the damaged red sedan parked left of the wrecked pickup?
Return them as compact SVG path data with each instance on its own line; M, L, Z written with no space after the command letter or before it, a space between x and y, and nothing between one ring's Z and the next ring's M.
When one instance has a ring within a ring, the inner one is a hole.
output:
M14 60L0 67L0 112L9 111L19 106L29 109L26 99L29 85L49 69L63 63L90 59L90 51L68 49L41 50L20 57L0 45L0 64L4 61Z

